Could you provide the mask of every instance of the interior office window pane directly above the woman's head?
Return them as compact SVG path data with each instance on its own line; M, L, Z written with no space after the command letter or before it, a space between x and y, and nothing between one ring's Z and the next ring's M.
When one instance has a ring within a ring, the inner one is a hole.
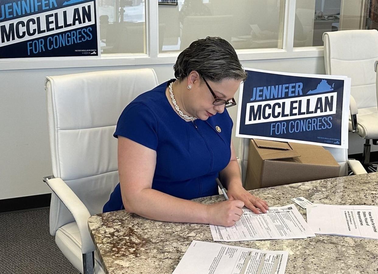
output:
M159 51L182 51L206 36L235 49L282 48L284 0L178 0L159 5Z

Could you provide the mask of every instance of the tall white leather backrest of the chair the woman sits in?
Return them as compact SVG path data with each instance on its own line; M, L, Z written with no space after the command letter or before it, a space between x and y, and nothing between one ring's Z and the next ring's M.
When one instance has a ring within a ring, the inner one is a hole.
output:
M153 69L95 71L46 77L53 175L62 178L90 214L102 207L119 182L119 115L136 96L158 84ZM52 194L50 233L73 216Z

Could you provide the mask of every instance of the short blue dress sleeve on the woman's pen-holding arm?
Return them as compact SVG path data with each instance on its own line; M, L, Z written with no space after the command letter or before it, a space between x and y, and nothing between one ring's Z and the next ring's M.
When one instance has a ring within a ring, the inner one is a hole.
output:
M126 137L156 151L158 146L156 117L146 105L131 103L122 111L113 136Z

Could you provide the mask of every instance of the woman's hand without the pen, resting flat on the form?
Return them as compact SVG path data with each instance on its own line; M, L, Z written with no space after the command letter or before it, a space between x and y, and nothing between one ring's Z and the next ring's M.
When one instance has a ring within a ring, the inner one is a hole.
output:
M244 205L247 208L251 209L254 213L257 213L257 214L261 212L266 213L266 210L269 209L268 203L266 203L264 200L246 191L240 182L239 183L230 182L228 186L227 195L230 200L243 201Z

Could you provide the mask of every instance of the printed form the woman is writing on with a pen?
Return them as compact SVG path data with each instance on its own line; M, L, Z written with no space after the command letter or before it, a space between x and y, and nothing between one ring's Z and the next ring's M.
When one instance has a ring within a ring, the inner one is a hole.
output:
M210 225L210 230L214 241L224 242L315 237L294 204L271 207L261 214L249 212L234 226Z

